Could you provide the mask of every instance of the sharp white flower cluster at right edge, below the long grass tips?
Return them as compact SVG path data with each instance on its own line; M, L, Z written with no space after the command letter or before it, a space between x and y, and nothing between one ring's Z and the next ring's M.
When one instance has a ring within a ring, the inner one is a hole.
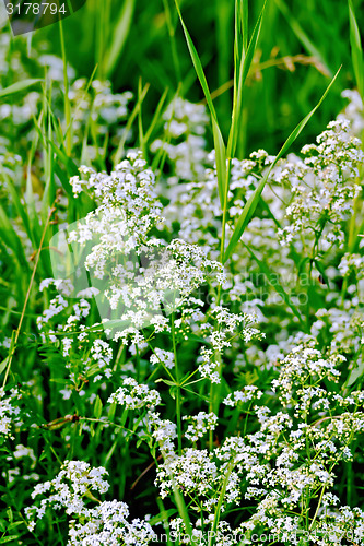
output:
M282 245L290 245L304 234L316 257L344 241L343 222L361 191L357 175L364 155L361 141L352 136L350 123L343 119L331 121L317 138L317 145L306 145L302 153L303 161L286 161L272 175L275 182L292 187L289 223L279 235Z

